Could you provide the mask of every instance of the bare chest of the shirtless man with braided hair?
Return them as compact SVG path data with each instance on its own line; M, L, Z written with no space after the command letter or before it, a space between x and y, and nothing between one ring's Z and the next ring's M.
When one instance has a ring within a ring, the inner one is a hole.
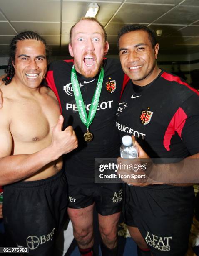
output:
M31 143L51 138L59 115L60 108L51 97L13 102L10 108L10 132L14 142Z

